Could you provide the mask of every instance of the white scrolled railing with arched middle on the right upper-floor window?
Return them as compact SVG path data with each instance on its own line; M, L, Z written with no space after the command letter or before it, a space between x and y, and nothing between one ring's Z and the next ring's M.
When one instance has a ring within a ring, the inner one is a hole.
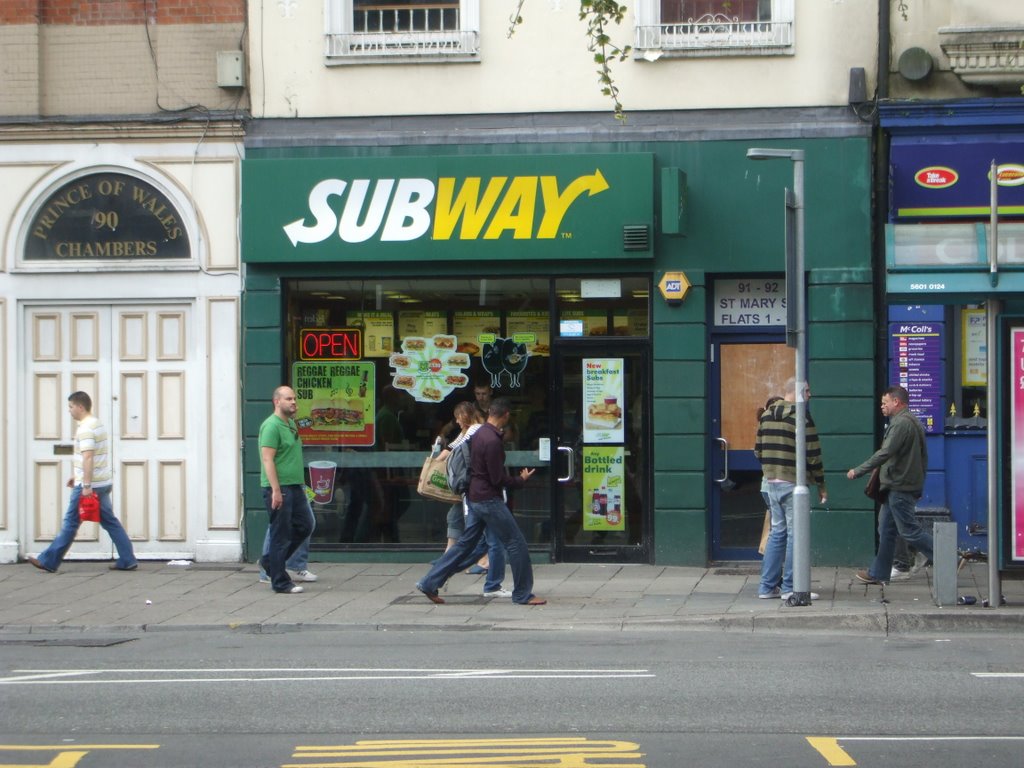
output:
M744 22L709 13L686 22L637 27L638 50L757 50L793 45L793 22Z

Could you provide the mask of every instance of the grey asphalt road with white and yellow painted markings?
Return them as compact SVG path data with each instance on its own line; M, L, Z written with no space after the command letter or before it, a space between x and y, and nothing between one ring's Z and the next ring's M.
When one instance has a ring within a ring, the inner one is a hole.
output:
M0 636L0 766L1020 766L1022 651L991 634Z

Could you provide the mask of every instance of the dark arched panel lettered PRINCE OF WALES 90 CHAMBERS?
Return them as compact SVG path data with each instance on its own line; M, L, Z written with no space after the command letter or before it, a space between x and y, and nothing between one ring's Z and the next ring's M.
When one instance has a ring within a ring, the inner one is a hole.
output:
M93 173L61 185L40 206L25 243L28 260L187 259L181 216L153 184Z

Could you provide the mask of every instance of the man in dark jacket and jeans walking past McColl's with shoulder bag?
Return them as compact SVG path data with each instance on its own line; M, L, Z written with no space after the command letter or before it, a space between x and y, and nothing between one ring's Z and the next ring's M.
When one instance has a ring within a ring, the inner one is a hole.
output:
M911 413L909 400L910 395L903 387L889 387L882 393L882 415L889 419L882 447L846 473L852 480L881 467L879 480L884 501L879 512L879 551L871 567L856 572L857 579L864 584L889 581L899 537L918 550L912 571L920 570L932 559L932 535L925 530L914 514L925 487L928 447L925 428Z

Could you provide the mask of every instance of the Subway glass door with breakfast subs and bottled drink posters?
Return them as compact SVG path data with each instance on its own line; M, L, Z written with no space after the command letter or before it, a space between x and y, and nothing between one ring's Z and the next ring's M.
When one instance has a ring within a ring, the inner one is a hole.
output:
M565 341L554 367L555 559L649 562L646 346Z

